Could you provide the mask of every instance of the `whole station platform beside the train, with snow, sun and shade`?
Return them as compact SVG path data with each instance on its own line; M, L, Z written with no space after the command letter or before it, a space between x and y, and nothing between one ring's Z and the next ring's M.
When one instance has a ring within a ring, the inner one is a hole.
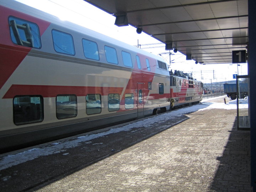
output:
M0 191L251 191L250 131L223 98L2 154Z

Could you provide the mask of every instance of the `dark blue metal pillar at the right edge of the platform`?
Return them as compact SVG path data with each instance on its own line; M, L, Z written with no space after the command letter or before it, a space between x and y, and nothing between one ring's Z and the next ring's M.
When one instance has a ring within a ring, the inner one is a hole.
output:
M248 0L249 45L248 70L250 78L256 74L256 1ZM251 123L251 185L256 191L256 89L254 79L250 79L250 123Z

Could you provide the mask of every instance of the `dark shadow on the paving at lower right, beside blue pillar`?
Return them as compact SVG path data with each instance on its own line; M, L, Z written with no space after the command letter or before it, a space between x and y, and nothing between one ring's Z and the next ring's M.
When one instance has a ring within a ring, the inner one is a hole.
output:
M237 130L236 120L221 157L211 190L251 191L250 131Z

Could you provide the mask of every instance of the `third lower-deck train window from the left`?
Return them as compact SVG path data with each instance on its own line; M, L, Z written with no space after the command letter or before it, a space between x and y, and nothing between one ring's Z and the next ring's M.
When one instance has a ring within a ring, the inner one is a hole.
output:
M100 94L88 94L86 96L86 113L89 115L101 113Z

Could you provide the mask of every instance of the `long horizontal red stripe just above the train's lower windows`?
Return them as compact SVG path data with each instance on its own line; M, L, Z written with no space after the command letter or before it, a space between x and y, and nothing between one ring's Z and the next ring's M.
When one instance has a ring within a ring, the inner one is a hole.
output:
M123 89L123 87L12 85L3 98L14 98L16 95L41 95L43 97L56 97L57 95L86 96L87 94L121 95Z

